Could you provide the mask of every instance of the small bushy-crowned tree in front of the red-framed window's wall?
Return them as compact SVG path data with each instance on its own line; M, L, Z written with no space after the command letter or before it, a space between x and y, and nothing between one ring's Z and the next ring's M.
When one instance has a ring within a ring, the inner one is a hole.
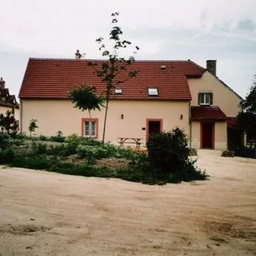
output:
M74 108L89 112L91 118L92 110L99 110L103 106L105 97L96 95L96 88L92 86L79 86L70 90L70 99Z

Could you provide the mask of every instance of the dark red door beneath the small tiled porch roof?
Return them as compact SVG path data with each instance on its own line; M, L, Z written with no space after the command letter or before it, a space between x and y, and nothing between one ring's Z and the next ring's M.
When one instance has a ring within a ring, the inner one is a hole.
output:
M201 123L201 147L214 148L214 123Z

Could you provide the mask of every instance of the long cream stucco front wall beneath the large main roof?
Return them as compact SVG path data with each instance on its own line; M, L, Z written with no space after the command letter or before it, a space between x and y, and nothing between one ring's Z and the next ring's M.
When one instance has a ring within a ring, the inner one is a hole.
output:
M121 118L121 115L124 118ZM182 120L180 115L183 115ZM81 119L89 118L88 112L73 108L69 100L28 100L21 103L22 131L28 133L31 118L37 119L36 134L53 135L63 131L64 135L81 135ZM92 112L99 118L99 139L102 138L104 109ZM146 140L147 118L163 119L163 130L170 131L179 126L189 135L189 102L113 100L109 103L105 141L118 141L120 137Z

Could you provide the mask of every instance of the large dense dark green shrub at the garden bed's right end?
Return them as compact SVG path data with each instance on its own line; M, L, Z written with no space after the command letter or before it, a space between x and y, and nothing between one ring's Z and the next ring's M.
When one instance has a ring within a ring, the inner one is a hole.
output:
M180 128L153 134L147 141L147 151L151 177L155 180L176 183L206 179L206 173L197 169L196 161L190 160L186 134Z

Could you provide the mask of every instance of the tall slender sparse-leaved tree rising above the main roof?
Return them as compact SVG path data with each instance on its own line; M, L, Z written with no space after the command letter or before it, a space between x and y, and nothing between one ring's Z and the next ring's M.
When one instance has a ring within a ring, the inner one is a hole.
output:
M138 71L128 70L128 66L134 62L134 57L131 56L128 59L125 57L120 57L118 52L123 48L127 48L131 45L130 41L122 40L122 29L118 27L118 12L112 13L112 24L113 27L109 33L109 41L113 44L110 50L107 50L104 43L104 38L99 37L96 39L96 42L99 44L99 51L102 53L102 57L107 57L108 60L102 61L101 66L98 66L98 63L93 63L88 61L88 65L92 66L95 70L96 76L98 76L102 83L105 84L105 115L103 123L103 134L102 134L102 143L105 141L105 128L109 110L109 99L111 96L112 89L115 86L125 83L125 81L131 77L137 76ZM137 53L139 47L135 47L133 51L134 54ZM127 76L125 79L124 73ZM122 78L121 76L122 75Z

